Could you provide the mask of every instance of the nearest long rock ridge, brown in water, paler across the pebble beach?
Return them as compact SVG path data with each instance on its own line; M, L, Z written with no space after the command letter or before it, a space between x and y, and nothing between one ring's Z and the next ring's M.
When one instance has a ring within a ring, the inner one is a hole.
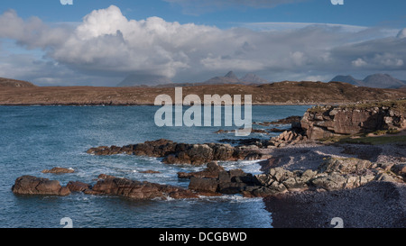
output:
M266 173L253 175L242 169L226 170L217 161L212 161L204 170L178 173L178 178L190 179L187 189L101 174L93 187L79 181L70 181L67 187L61 187L57 180L23 176L15 180L12 190L14 194L25 195L67 196L71 192L83 192L88 195L125 196L132 199L180 199L223 194L265 197L288 191L352 189L374 180L404 183L405 165L380 164L355 158L328 158L317 170L272 168Z

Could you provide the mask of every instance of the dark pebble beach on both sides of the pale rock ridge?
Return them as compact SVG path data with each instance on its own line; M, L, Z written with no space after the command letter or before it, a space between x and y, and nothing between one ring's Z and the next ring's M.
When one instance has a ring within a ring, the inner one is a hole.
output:
M272 168L317 169L325 158L361 158L383 164L404 163L404 145L305 143L274 149ZM355 150L349 152L348 150ZM263 171L270 169L263 162ZM333 228L342 218L345 228L405 228L406 184L371 181L364 186L333 191L306 190L263 198L275 228Z

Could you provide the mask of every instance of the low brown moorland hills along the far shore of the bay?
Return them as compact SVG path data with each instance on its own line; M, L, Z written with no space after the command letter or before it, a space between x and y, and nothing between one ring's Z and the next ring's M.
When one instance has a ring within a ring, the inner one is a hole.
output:
M5 87L0 105L153 105L161 94L174 100L173 87ZM183 87L183 96L252 95L253 105L342 105L406 97L406 90L355 87L341 82L284 81L264 85Z

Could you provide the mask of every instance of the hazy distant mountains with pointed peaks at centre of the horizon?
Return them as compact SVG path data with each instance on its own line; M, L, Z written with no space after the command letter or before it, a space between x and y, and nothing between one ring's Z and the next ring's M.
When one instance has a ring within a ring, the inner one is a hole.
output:
M205 85L253 85L270 83L268 80L258 77L253 73L248 73L244 77L238 78L233 71L229 71L225 76L212 77L204 82L197 83L172 83L171 79L159 76L136 76L130 75L125 78L117 87L195 87Z

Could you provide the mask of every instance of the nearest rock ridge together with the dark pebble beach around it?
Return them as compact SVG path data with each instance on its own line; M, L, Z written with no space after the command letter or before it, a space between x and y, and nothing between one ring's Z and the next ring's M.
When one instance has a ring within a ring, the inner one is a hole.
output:
M331 228L335 217L341 218L346 228L406 227L404 145L371 148L363 144L307 141L267 150L272 158L259 160L263 174L226 170L217 161L211 161L201 171L178 173L178 178L189 179L188 188L103 174L97 177L96 184L70 181L66 187L56 180L23 176L16 179L13 191L48 196L80 192L135 200L240 194L263 197L275 228Z

